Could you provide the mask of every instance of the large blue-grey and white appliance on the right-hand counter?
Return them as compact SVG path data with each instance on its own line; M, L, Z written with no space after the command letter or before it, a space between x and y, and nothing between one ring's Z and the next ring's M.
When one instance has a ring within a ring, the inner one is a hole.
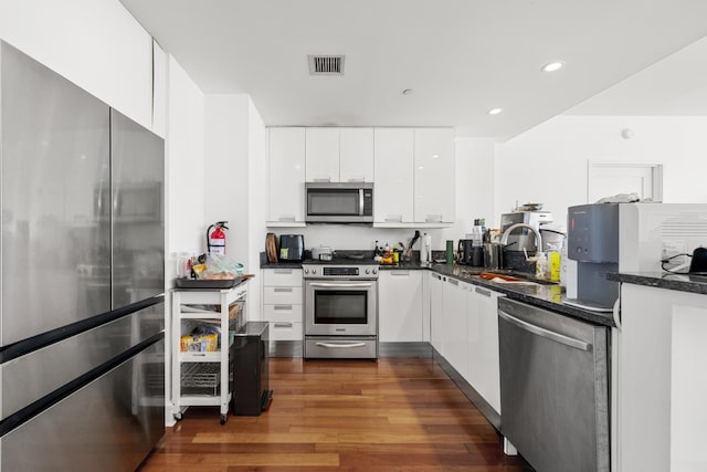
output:
M614 311L619 282L608 273L679 271L685 254L707 241L705 203L580 204L567 218L572 264L563 303L584 310Z

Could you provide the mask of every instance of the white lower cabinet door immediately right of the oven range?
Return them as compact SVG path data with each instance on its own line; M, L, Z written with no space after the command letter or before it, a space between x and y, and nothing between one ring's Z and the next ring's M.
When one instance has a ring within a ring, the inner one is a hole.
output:
M378 338L381 343L423 340L422 272L380 271Z

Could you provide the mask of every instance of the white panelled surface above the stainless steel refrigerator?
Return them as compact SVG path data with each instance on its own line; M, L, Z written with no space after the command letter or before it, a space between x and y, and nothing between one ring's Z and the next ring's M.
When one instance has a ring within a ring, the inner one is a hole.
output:
M3 0L0 39L151 129L152 39L117 0Z

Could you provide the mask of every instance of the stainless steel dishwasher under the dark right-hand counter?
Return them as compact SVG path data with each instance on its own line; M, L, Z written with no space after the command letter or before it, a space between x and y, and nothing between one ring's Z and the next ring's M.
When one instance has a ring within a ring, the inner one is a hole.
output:
M609 471L608 329L498 301L500 430L539 472Z

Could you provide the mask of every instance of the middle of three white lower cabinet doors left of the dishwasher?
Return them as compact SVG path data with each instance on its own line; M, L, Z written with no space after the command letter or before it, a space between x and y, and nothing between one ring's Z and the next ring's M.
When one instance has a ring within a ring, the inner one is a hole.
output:
M446 277L442 293L444 297L443 356L447 363L464 375L467 365L466 355L466 284L456 279Z

